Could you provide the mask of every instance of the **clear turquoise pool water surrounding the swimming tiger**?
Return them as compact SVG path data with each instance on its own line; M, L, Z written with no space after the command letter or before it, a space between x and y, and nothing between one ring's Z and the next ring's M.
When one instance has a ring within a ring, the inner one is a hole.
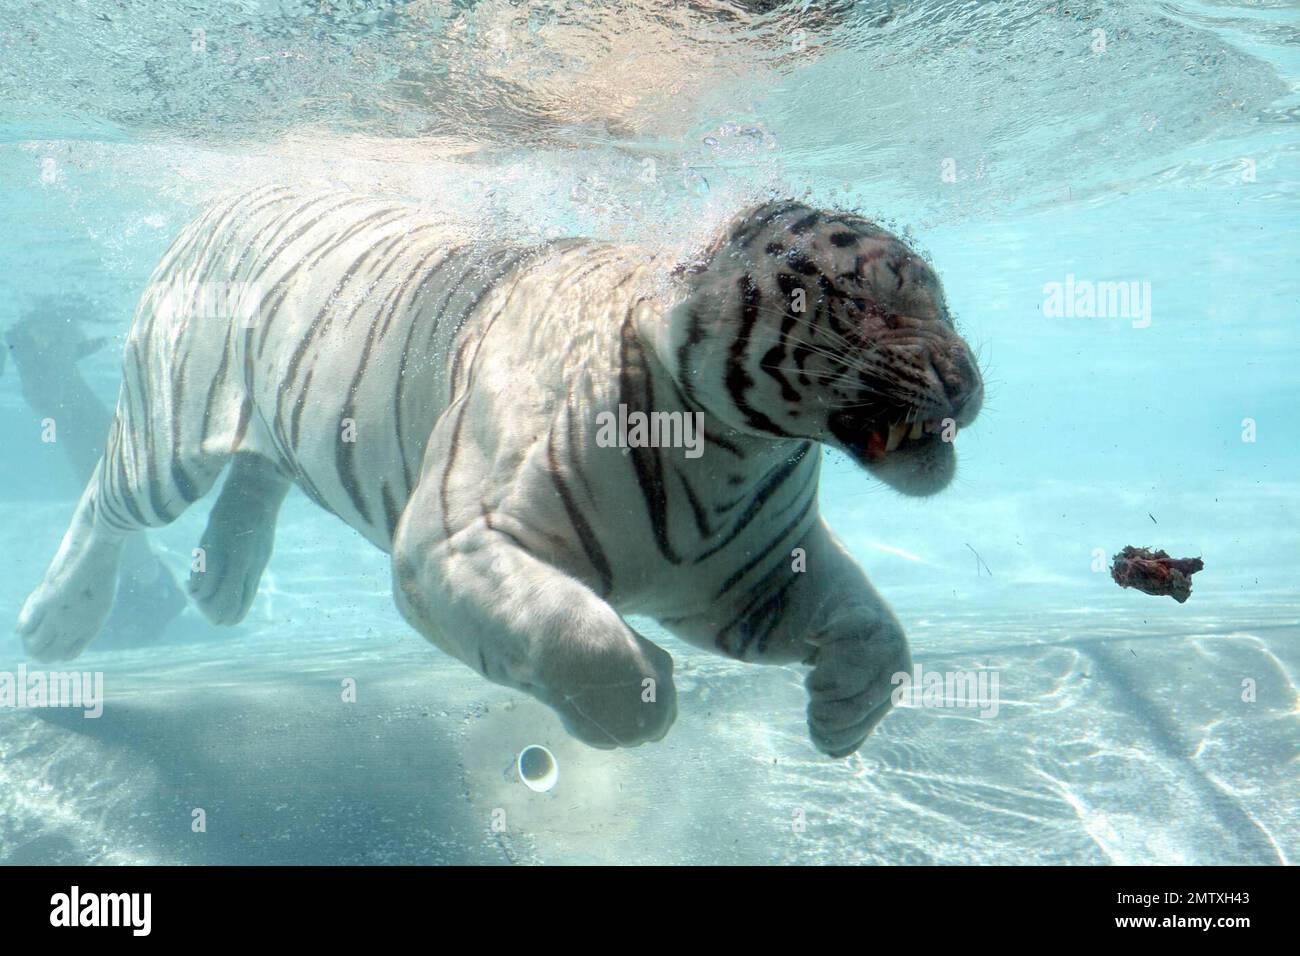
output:
M237 630L92 648L94 721L0 708L0 861L1294 862L1297 82L1282 3L0 0L0 329L74 303L105 403L155 263L231 189L682 250L793 195L910 237L987 406L939 497L832 453L822 507L918 662L1000 676L994 717L900 708L831 761L797 669L638 622L677 724L590 750L428 646L385 555L294 494ZM1119 315L1054 308L1118 282ZM40 433L9 363L5 620L78 496ZM151 536L178 572L204 519ZM1124 545L1202 557L1191 600L1118 589ZM532 743L547 793L511 775Z

